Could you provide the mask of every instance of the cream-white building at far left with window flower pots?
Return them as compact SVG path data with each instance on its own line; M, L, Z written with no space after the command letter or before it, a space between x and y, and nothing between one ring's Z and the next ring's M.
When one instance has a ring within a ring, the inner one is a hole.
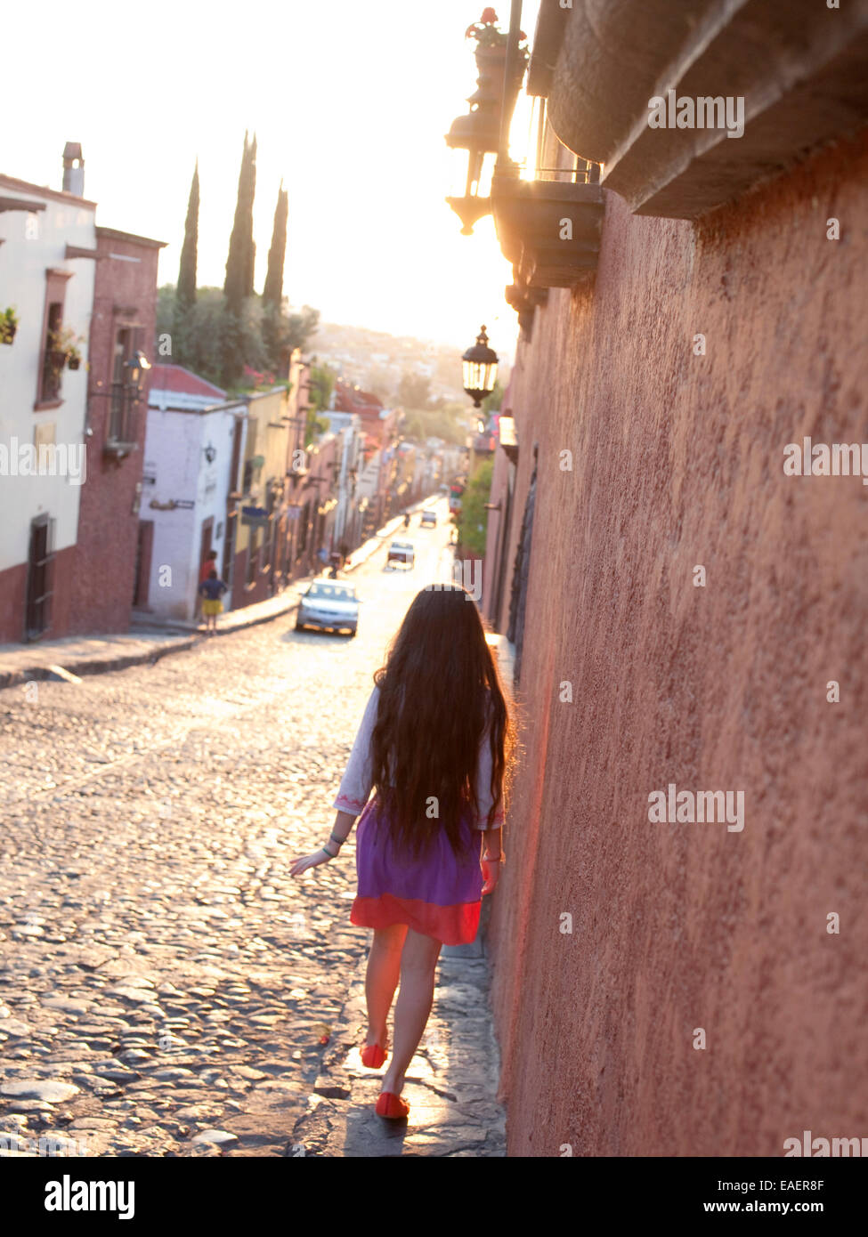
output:
M0 176L0 319L17 319L11 345L9 330L0 335L0 641L21 640L22 612L28 633L47 626L41 597L56 559L74 552L95 210L74 192ZM64 328L80 353L76 369L52 348Z

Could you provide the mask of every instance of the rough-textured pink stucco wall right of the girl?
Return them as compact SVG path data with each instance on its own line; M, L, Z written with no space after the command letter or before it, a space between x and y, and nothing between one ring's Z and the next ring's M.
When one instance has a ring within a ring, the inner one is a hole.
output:
M868 486L783 471L804 435L868 440L866 186L861 140L696 228L609 193L596 286L519 357L525 755L489 929L513 1155L868 1136ZM670 782L743 790L744 830L651 824Z

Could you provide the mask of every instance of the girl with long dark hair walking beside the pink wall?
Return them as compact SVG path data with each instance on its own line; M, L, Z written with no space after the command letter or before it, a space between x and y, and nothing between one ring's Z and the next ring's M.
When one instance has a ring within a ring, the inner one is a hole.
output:
M362 1050L371 1069L388 1056L386 1019L400 981L381 1117L410 1112L404 1075L431 1013L440 950L475 938L482 894L497 886L511 746L472 595L458 585L423 589L374 675L331 837L290 870L298 876L337 858L358 818L350 920L374 929Z

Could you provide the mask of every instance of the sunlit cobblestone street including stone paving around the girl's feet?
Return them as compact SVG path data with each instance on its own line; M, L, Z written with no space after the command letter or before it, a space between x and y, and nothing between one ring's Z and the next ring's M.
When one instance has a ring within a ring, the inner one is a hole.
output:
M349 1111L375 1121L355 1106L379 1077L354 1048L368 943L349 924L354 835L289 877L328 836L371 673L446 544L442 522L411 536L415 570L386 573L383 550L352 576L354 640L296 632L290 615L154 666L0 693L7 1147L503 1154L478 946L445 950L406 1134L350 1139Z

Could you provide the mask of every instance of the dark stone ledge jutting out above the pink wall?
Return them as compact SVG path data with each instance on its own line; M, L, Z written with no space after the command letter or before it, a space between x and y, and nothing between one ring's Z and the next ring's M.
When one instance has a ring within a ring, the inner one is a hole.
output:
M868 122L868 0L575 0L562 31L552 129L635 214L696 219ZM650 127L669 90L742 99L743 135Z

